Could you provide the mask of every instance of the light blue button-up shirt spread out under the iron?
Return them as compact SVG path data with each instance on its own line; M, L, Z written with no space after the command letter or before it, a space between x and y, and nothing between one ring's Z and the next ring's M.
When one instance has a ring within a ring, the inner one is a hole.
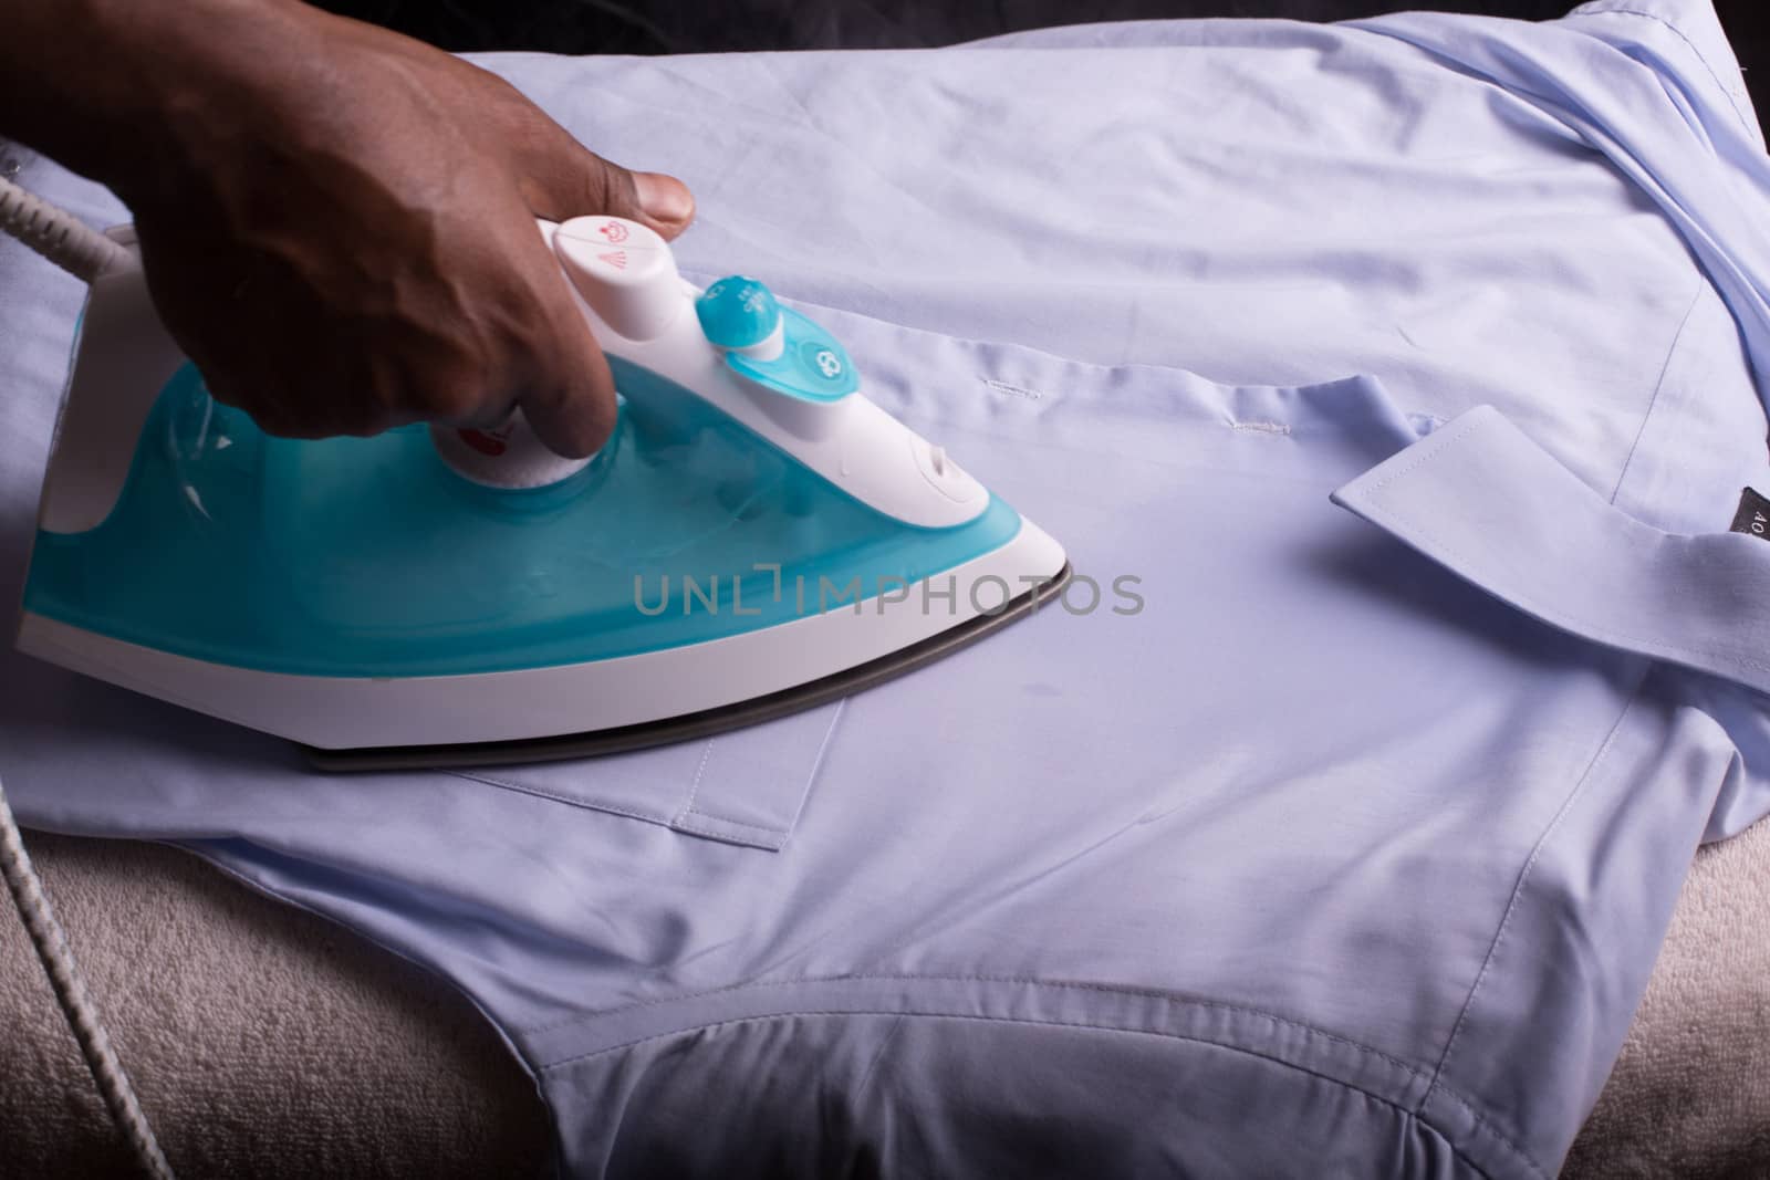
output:
M434 968L570 1175L1554 1175L1770 810L1770 161L1708 7L487 64L1142 609L458 775L7 656L19 814ZM0 249L18 579L80 292Z

